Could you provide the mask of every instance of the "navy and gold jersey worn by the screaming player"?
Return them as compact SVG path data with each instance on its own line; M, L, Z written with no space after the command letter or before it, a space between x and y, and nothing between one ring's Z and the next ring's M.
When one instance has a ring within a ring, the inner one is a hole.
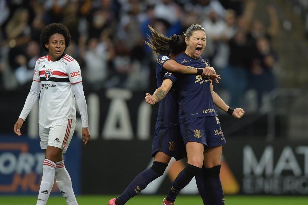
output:
M209 66L209 62L205 58L194 59L184 52L174 60L182 65L195 68ZM180 108L178 112L179 123L197 117L218 116L210 90L209 78L202 77L202 75L185 75L173 72L166 73L164 78L172 80L176 90Z

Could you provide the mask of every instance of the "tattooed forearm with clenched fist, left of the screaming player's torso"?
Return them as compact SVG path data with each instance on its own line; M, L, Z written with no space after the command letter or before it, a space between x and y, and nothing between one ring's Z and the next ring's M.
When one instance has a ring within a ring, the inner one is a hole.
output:
M153 95L149 93L146 94L144 98L145 102L149 103L150 105L154 105L156 102L161 101L162 99L164 99L164 97L169 92L171 87L172 87L172 81L168 78L164 79L161 86L155 90Z

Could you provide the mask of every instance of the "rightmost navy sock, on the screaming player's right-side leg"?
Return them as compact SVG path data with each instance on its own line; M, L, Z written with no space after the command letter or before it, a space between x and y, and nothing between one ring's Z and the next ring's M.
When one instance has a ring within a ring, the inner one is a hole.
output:
M225 204L225 195L219 178L221 165L205 169L205 188L211 196L211 203L215 205Z

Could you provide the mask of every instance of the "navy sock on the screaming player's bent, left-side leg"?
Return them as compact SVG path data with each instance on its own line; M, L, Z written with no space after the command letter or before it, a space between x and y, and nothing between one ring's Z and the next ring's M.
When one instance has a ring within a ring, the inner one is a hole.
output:
M193 179L193 177L200 172L200 168L188 164L176 177L171 184L171 188L167 195L167 200L174 202L176 195Z

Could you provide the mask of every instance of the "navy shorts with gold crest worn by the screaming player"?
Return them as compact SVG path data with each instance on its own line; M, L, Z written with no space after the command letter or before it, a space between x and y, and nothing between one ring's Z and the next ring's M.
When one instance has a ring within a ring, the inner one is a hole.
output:
M202 143L207 147L217 147L226 143L217 116L188 119L180 124L180 132L185 146L188 142Z

